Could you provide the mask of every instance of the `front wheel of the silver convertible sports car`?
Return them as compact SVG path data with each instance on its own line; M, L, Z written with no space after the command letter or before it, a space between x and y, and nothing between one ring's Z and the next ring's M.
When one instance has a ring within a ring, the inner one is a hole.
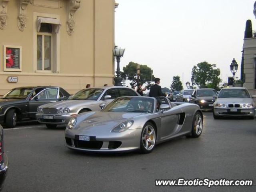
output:
M150 153L156 144L156 130L152 123L146 123L141 132L140 151Z

